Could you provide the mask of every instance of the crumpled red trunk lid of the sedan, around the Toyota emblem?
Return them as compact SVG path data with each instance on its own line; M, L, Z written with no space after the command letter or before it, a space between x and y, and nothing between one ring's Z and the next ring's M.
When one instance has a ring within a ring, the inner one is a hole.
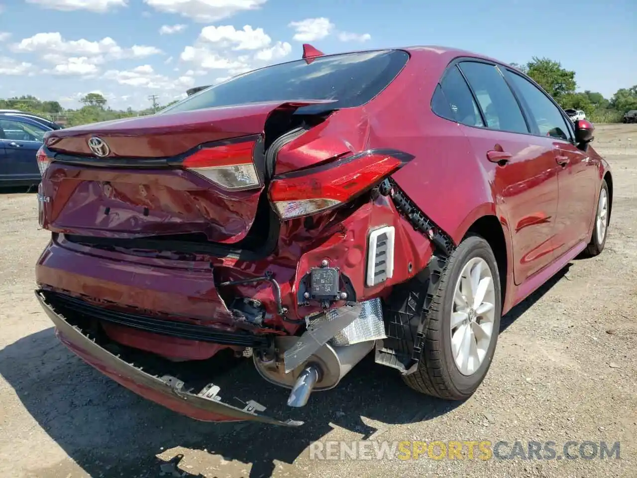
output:
M53 131L45 138L53 162L39 187L40 224L53 232L96 238L187 235L238 243L257 217L264 184L227 190L182 168L180 161L202 145L252 137L255 167L265 171L259 141L271 113L315 103L325 102L270 101ZM90 149L94 137L108 145L105 157Z

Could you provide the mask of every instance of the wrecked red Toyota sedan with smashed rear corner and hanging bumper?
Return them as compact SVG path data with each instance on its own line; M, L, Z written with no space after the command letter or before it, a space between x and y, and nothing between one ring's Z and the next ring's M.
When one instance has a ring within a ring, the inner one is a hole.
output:
M501 315L604 249L592 133L486 57L306 45L156 115L47 133L36 294L87 363L204 421L301 424L222 400L212 367L241 356L292 407L372 351L462 400Z

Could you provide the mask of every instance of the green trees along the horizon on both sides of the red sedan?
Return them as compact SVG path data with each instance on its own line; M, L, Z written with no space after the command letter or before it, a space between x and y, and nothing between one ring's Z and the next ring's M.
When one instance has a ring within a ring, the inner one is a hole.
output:
M550 94L562 108L583 110L586 117L593 122L620 122L624 113L637 110L637 85L617 90L612 98L604 98L599 92L575 92L577 83L575 71L562 68L560 62L533 57L526 64L511 64L535 80ZM78 109L64 109L57 101L41 101L35 96L0 99L0 109L13 109L37 113L51 120L63 118L67 126L107 121L132 116L150 115L161 107L145 110L113 110L107 105L106 98L99 93L89 93L80 102ZM169 105L175 103L169 103ZM168 105L164 105L168 106Z

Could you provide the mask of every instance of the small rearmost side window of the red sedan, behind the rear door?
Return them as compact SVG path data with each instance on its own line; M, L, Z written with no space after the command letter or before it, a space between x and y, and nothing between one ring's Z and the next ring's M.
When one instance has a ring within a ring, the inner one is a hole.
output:
M453 66L443 76L431 100L436 115L468 126L484 126L480 110L460 71Z

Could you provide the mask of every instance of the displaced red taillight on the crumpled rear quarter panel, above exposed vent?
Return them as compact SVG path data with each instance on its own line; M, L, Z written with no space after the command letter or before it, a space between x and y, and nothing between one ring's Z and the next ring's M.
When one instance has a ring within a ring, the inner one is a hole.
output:
M391 154L357 154L275 179L269 188L270 200L282 219L316 214L375 187L404 163L404 158Z

